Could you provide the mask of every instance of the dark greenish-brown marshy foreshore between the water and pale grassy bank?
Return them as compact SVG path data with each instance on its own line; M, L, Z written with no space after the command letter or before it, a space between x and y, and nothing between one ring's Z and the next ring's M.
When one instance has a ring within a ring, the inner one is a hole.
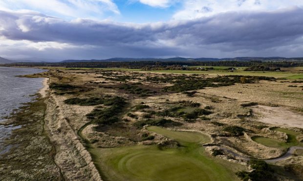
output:
M5 140L12 148L0 156L0 180L63 180L54 162L55 147L44 131L45 109L44 99L37 98L9 118L9 125L21 128Z

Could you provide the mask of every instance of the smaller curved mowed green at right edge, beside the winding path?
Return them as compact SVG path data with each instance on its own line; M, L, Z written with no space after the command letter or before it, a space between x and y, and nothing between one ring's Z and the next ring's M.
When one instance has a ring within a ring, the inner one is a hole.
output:
M275 127L272 128L271 130L275 130L275 131L280 131L280 132L284 132L287 134L287 142L281 142L279 140L275 140L275 139L271 139L271 138L264 138L264 137L260 137L260 136L254 136L252 137L252 140L254 140L255 142L268 146L268 147L275 147L275 148L289 148L291 146L302 146L302 143L299 143L298 140L296 139L296 136L298 136L300 133L296 132L296 131L292 131L292 130L288 130L288 129L284 129L284 128L280 128L280 127Z

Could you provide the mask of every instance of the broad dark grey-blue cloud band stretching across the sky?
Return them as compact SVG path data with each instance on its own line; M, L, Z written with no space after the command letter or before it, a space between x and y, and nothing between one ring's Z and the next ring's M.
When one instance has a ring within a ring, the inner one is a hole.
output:
M117 49L121 55L130 56L195 56L201 54L200 48L209 52L258 53L264 49L274 52L283 46L288 55L290 51L292 54L302 51L293 52L287 47L303 43L303 9L228 12L208 18L151 24L65 21L33 12L0 11L0 36L11 40L92 45L96 50L96 47L107 51Z

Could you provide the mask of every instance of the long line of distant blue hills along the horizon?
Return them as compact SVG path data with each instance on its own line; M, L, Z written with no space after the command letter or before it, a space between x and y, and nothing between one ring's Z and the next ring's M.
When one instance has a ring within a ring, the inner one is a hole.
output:
M303 57L285 58L285 57L235 57L235 58L109 58L102 60L64 60L61 63L71 62L129 62L129 61L303 61Z

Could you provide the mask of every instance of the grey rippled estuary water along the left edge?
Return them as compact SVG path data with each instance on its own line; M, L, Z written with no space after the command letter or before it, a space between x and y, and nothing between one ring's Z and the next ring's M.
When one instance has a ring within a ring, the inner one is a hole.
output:
M32 101L32 95L43 88L43 78L24 78L16 75L26 75L45 72L42 69L0 67L0 123L22 106L22 103ZM9 147L2 147L1 142L9 136L11 130L17 129L12 125L0 125L0 154L6 152ZM1 149L2 148L2 149Z

